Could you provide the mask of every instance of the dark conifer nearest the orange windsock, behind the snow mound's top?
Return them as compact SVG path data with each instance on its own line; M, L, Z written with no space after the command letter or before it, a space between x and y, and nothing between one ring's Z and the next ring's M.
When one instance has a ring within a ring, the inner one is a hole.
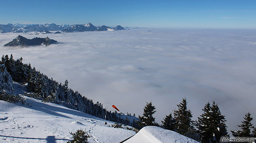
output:
M141 122L138 122L138 125L142 127L154 126L155 118L153 117L153 114L156 112L155 109L156 108L152 105L152 102L147 103L144 107L143 116L139 116Z

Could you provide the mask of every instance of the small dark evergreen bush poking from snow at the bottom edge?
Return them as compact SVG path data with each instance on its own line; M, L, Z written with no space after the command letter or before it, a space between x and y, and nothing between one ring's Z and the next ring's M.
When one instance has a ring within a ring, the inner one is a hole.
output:
M88 138L90 138L90 135L87 135L86 131L83 131L82 129L77 130L75 133L70 133L73 136L73 140L67 143L88 143Z

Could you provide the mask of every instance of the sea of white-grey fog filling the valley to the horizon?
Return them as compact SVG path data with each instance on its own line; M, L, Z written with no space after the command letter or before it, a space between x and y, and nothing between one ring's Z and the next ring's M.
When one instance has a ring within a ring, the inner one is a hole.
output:
M22 56L49 78L82 95L115 104L123 113L143 114L156 107L156 121L177 109L183 97L193 119L215 101L229 130L238 129L247 112L256 126L256 30L130 29L46 37L60 44L4 47L18 33L0 34L0 54ZM110 106L109 110L114 110Z

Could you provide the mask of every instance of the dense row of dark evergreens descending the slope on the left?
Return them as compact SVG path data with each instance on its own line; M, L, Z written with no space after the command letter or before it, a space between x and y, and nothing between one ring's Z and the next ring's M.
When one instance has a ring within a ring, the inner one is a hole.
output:
M0 60L0 65L2 65L0 66L0 74L5 74L2 77L8 77L8 75L9 77L2 79L3 83L1 83L0 89L2 85L6 85L8 80L8 83L10 84L12 80L21 84L28 83L28 91L30 91L31 94L26 94L26 96L41 99L44 102L62 104L70 109L78 110L99 118L105 118L106 110L101 103L97 102L94 104L92 99L88 99L87 97L82 96L78 91L73 91L68 88L67 80L62 85L52 78L49 79L46 75L37 71L36 68L32 68L30 64L23 64L22 60L22 58L14 60L13 55L11 55L10 58L8 55L2 56ZM11 87L11 85L5 86L4 88L9 87ZM14 89L8 90L14 92L12 91ZM6 94L9 93L4 93L4 95ZM1 95L3 95L3 93L1 93ZM117 118L116 114L117 113L107 111L107 120L132 125L127 120Z

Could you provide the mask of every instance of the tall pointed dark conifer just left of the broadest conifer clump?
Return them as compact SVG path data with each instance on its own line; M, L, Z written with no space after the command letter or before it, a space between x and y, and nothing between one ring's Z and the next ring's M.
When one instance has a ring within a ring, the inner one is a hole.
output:
M177 104L178 110L174 110L174 118L176 120L175 130L181 135L194 131L192 113L187 109L186 98L182 99L182 102Z

